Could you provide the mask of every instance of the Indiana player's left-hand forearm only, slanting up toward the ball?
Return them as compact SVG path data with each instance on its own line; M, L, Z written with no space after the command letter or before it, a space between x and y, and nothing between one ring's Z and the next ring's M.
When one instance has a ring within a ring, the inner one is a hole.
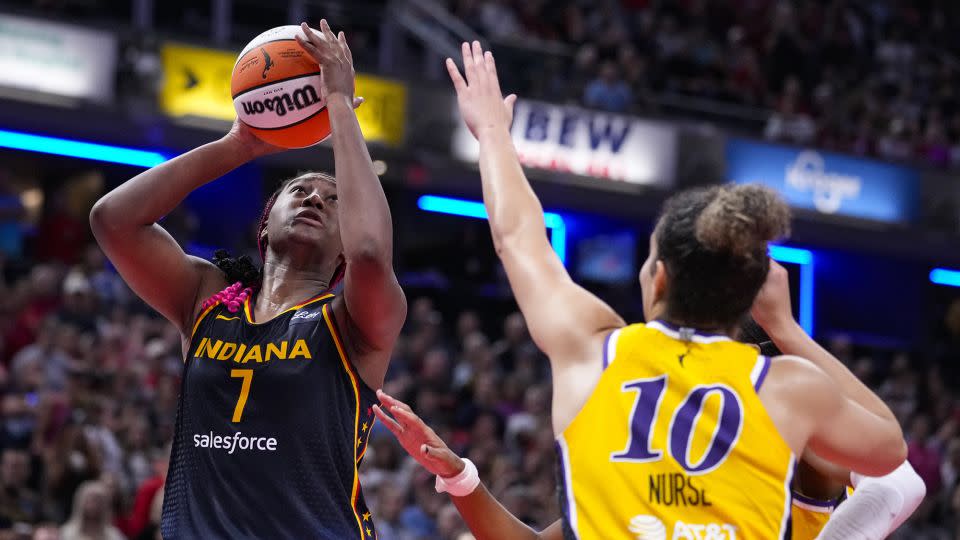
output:
M159 221L193 190L251 159L230 136L195 148L127 180L104 195L91 212L91 221L122 232Z

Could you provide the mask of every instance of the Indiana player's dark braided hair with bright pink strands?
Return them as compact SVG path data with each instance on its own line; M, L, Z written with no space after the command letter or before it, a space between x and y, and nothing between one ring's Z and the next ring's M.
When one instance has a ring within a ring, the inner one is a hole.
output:
M267 218L270 217L270 211L273 209L273 205L277 202L277 197L279 197L280 193L282 193L283 190L286 189L286 187L289 186L293 181L308 175L322 176L328 180L334 182L336 181L332 176L326 173L310 172L288 178L280 183L280 186L277 187L276 191L270 195L266 204L264 204L263 212L260 214L260 220L257 222L257 249L260 251L261 263L266 261L268 243L267 237L263 234L263 232L267 228ZM240 306L243 304L243 302L245 302L255 290L260 288L260 285L263 282L263 268L262 266L258 267L256 264L254 264L249 256L241 255L240 257L231 257L230 253L225 249L217 250L213 254L212 262L223 272L227 282L231 283L231 285L204 300L200 309L202 311L217 303L222 303L227 306L227 309L230 312L236 312L240 309ZM333 289L337 286L340 280L343 279L345 270L346 264L340 264L337 266L336 270L334 270L333 277L330 279L328 289Z

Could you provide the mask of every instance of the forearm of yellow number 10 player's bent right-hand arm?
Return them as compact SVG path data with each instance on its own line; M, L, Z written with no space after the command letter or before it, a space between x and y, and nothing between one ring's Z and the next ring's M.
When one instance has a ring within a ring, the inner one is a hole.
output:
M886 403L867 388L840 360L808 336L796 321L784 321L765 330L784 354L800 356L813 362L837 382L847 397L877 416L897 422L896 416Z

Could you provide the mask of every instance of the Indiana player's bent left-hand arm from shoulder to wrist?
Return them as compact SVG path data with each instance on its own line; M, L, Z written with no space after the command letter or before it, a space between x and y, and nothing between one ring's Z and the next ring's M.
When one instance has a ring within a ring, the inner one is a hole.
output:
M189 332L201 297L225 282L213 264L185 254L157 221L193 190L278 150L235 123L220 140L124 182L90 211L90 228L124 281L181 333Z

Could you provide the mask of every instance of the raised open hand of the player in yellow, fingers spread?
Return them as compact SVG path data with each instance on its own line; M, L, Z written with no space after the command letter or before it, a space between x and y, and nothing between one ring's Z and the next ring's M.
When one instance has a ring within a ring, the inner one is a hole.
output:
M484 52L479 41L464 43L462 49L466 79L452 58L447 58L447 71L457 91L460 115L470 133L479 139L485 129L510 129L517 96L510 94L504 99L493 53Z

